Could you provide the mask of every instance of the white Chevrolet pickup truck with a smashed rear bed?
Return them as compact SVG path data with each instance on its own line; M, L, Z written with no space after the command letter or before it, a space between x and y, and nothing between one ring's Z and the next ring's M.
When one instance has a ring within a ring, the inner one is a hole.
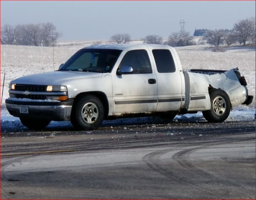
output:
M168 45L94 45L82 48L59 69L10 82L6 108L31 129L71 121L94 130L104 119L202 111L223 122L233 106L250 104L238 69L183 70Z

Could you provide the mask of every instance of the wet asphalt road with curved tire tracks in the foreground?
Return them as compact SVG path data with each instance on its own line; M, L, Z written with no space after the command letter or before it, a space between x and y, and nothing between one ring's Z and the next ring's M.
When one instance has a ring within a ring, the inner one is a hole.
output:
M89 198L255 199L255 121L1 133L1 199Z

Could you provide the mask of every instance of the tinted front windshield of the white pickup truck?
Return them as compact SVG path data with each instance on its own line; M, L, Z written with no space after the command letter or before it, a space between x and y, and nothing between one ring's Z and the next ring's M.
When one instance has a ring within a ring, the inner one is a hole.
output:
M121 52L116 49L81 49L59 71L111 72Z

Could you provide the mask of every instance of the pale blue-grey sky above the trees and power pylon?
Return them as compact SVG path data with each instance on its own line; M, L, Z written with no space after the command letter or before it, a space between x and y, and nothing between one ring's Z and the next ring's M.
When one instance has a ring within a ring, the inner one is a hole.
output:
M195 28L231 29L248 17L255 17L255 1L1 1L1 26L52 22L60 40L168 37L181 19L193 34Z

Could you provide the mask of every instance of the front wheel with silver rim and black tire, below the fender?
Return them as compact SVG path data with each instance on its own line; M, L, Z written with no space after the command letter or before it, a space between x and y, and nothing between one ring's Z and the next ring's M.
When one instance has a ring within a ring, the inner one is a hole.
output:
M104 106L98 97L87 95L75 104L72 110L71 123L78 130L95 130L104 119Z

